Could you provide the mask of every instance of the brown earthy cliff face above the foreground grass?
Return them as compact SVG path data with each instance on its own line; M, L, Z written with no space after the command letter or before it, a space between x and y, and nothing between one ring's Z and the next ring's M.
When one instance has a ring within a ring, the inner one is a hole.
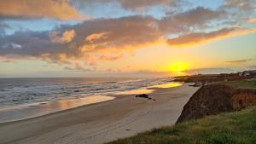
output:
M220 112L233 112L256 105L255 89L235 89L224 84L202 86L183 107L177 123Z

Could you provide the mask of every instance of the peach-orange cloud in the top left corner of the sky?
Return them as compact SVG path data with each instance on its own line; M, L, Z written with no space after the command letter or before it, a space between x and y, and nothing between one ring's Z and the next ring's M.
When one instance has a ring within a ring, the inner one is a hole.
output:
M0 19L53 18L57 20L81 20L69 0L8 0L0 1Z

